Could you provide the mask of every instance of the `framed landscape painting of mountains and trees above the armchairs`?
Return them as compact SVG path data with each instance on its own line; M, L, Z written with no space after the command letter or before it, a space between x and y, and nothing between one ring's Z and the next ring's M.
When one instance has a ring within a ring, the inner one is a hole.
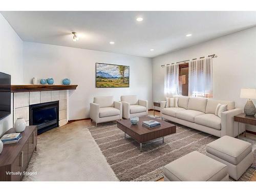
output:
M96 88L129 88L130 67L96 62Z

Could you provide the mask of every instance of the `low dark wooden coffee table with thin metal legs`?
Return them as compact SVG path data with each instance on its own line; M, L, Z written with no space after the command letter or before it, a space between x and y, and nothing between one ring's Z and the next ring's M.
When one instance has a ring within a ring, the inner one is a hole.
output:
M161 126L148 128L142 125L143 121L152 119L160 122ZM140 151L142 151L142 143L161 137L164 142L164 136L176 133L176 125L147 116L140 117L139 122L135 125L131 123L130 119L117 120L117 127L124 132L124 137L126 134L130 135L140 143Z

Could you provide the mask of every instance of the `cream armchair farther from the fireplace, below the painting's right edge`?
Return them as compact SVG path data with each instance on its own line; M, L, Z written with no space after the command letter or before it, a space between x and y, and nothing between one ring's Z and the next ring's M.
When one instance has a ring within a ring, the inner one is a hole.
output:
M121 96L121 102L123 104L123 117L125 119L148 114L148 102L138 99L136 95L123 95Z

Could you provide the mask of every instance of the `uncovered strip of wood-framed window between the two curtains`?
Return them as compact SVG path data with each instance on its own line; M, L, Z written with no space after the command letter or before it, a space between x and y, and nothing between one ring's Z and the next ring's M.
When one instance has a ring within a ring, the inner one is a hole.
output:
M188 63L179 65L179 95L188 96Z

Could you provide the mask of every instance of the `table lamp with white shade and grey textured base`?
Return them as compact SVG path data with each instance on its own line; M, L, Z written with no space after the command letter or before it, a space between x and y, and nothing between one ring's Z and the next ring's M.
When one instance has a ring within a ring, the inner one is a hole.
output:
M241 89L240 97L249 99L244 106L245 115L254 116L256 108L250 99L256 99L256 89Z

